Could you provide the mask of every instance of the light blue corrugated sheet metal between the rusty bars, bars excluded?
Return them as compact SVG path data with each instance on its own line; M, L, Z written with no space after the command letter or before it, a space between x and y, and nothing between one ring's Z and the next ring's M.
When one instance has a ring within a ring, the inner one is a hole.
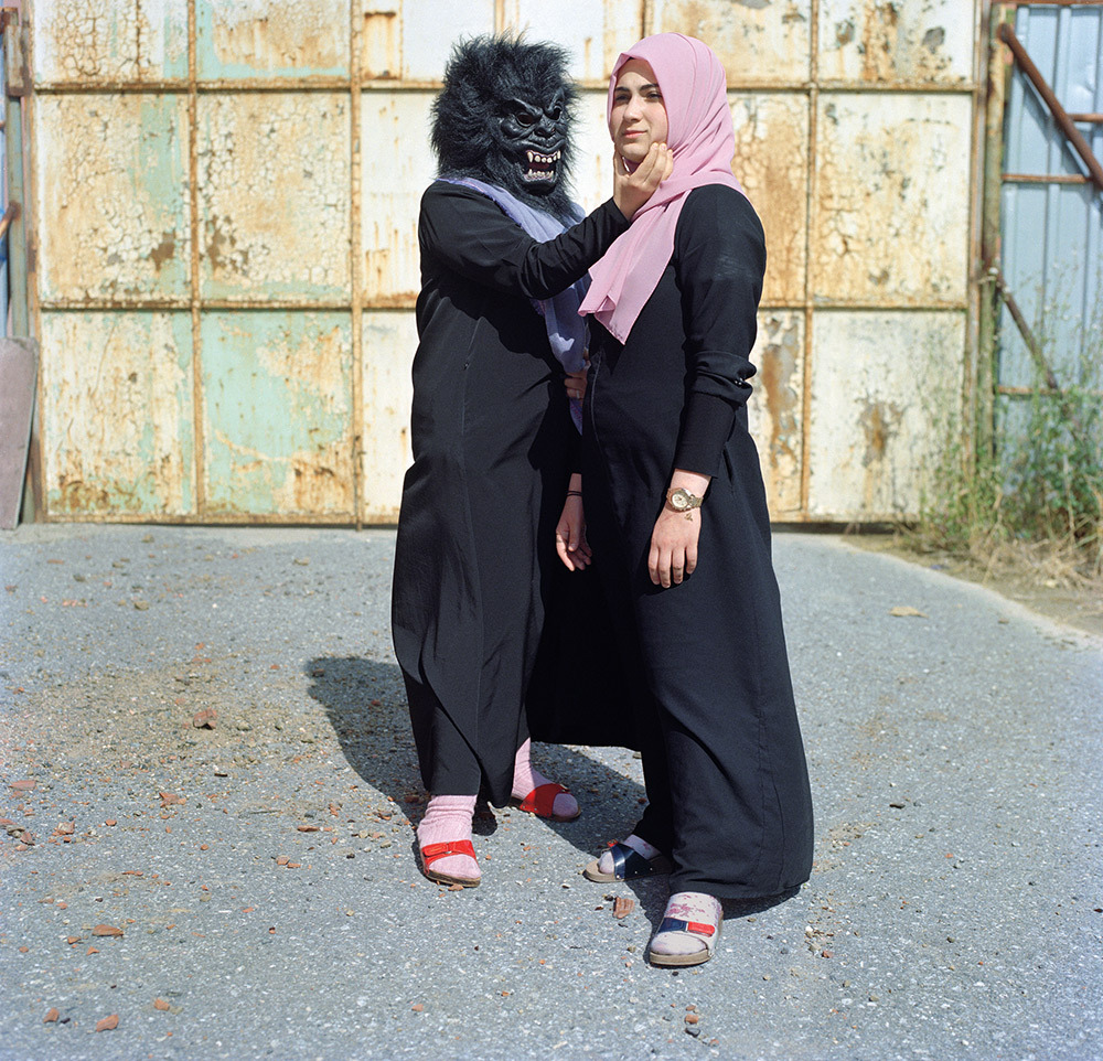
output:
M1071 114L1103 111L1103 3L1024 6L1015 32ZM1096 158L1103 126L1078 122ZM1086 169L1018 69L1008 94L1005 172L1085 176ZM1002 267L1062 385L1097 382L1103 326L1103 192L1091 183L1005 183ZM998 382L1030 387L1037 371L1006 308Z

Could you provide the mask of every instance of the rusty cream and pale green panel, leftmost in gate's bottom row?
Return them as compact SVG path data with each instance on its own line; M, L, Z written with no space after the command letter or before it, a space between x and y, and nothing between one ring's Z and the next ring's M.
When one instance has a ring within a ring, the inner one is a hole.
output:
M44 493L54 515L195 512L186 313L42 314Z

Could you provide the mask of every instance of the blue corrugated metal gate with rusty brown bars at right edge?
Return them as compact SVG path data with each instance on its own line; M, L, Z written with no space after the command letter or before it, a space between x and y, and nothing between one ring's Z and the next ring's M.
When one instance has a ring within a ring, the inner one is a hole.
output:
M999 297L994 412L1022 437L1022 398L1100 382L1103 3L1004 4L994 35L1004 45L993 146L1003 171L990 190L1000 242L986 248Z

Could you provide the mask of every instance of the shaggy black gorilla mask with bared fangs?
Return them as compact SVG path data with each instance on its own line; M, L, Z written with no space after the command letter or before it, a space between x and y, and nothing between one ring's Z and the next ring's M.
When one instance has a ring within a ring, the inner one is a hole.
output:
M513 36L457 44L432 105L441 176L473 176L559 218L570 212L567 174L575 88L567 52Z

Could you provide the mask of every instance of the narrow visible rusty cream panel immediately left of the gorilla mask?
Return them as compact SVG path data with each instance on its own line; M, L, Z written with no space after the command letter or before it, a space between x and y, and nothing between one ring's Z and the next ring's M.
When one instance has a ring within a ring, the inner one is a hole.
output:
M413 306L421 287L417 219L437 163L429 146L433 95L368 93L361 105L361 253L365 304Z

